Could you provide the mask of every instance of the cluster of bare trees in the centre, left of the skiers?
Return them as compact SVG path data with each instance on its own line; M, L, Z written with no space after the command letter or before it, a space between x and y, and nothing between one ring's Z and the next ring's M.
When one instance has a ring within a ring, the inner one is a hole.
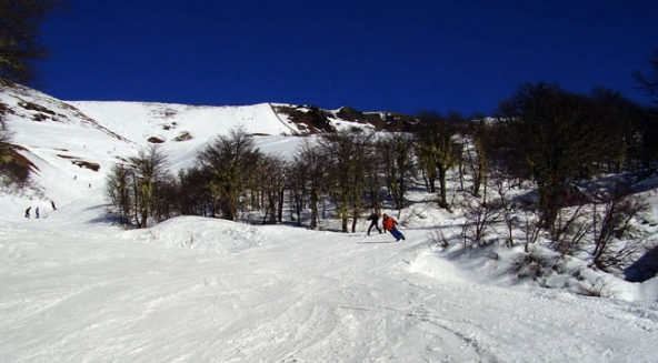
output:
M280 223L288 206L291 221L306 218L317 229L330 204L342 231L353 232L363 211L380 211L385 201L405 206L415 173L409 134L338 131L305 142L292 160L260 152L253 138L242 129L218 137L177 177L152 145L113 167L107 195L121 223L139 228L176 215L243 220L252 211L262 223Z

